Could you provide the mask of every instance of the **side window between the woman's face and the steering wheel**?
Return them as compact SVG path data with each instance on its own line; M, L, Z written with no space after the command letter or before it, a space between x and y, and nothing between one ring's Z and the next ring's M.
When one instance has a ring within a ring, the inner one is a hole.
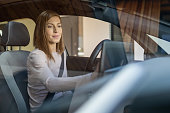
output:
M111 39L111 24L83 16L61 16L63 37L71 56L89 57L96 45Z

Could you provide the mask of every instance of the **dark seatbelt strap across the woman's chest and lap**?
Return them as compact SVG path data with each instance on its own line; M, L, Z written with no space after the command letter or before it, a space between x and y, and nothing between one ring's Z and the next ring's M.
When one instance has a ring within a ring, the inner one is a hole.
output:
M60 65L60 71L59 71L58 77L62 77L63 71L64 71L64 53L61 56L62 56L62 59L61 59L61 65ZM50 103L54 97L54 94L55 93L48 92L48 95L46 96L44 103Z

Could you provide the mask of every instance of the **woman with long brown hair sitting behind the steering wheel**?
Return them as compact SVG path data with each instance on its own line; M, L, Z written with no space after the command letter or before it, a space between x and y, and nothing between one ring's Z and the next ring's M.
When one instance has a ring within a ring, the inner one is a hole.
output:
M31 112L44 102L48 92L55 92L53 100L71 90L81 81L90 81L91 74L67 77L66 55L60 16L54 11L42 12L36 22L33 50L27 60L28 94ZM58 77L61 54L64 52L64 70Z

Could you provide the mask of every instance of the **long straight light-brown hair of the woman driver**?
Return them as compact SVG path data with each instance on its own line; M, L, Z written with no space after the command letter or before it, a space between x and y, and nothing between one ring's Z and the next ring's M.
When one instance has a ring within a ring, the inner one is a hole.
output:
M48 57L48 59L53 59L52 53L50 52L48 39L45 32L45 27L47 21L51 18L57 16L61 20L60 16L51 10L43 11L37 18L36 27L34 31L34 40L33 45L35 48L42 50ZM56 44L56 52L62 54L64 52L64 42L63 37L61 36L60 42Z

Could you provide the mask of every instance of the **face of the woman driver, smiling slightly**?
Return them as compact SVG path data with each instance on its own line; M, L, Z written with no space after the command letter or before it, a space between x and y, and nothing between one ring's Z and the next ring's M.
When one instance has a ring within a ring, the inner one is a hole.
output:
M49 44L56 44L60 42L62 36L62 26L59 17L51 17L46 24L45 32L49 41Z

